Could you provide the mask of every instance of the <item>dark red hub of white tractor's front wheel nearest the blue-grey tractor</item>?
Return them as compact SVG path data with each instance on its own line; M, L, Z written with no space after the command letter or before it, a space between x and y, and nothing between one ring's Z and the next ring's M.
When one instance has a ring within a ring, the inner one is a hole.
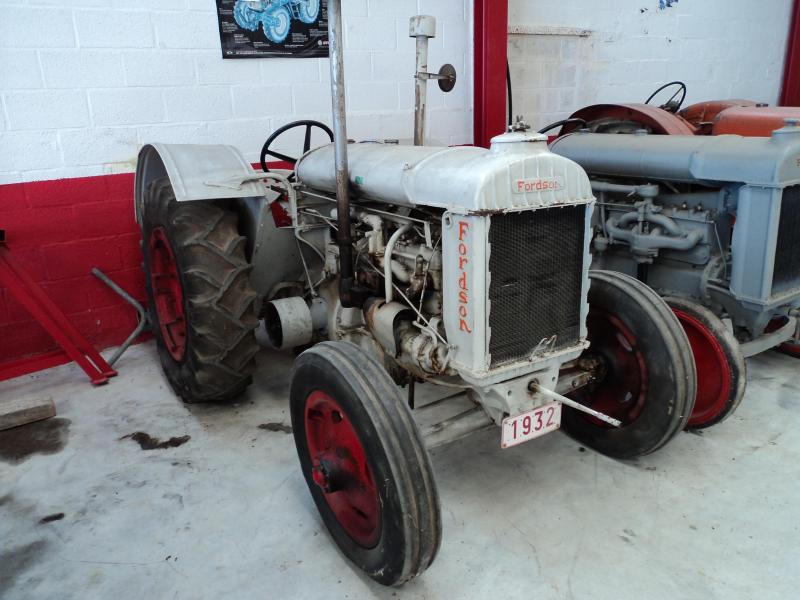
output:
M604 367L604 376L592 386L573 394L576 400L622 421L635 421L647 401L648 370L636 336L618 317L598 308L589 311L587 320L590 353ZM610 427L589 415L597 425Z

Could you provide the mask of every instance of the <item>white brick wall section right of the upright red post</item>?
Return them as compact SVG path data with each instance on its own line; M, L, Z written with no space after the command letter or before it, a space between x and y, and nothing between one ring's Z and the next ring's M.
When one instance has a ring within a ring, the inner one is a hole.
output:
M511 35L514 112L534 127L602 102L644 102L661 84L686 82L686 106L780 94L792 0L509 0L509 24L589 29Z

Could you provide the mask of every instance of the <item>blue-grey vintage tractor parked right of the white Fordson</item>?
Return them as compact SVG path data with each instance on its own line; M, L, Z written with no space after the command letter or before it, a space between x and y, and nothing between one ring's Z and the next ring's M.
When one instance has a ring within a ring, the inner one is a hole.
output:
M800 127L575 133L551 149L592 179L593 267L647 283L684 325L698 369L689 425L724 419L744 393L743 357L800 343Z

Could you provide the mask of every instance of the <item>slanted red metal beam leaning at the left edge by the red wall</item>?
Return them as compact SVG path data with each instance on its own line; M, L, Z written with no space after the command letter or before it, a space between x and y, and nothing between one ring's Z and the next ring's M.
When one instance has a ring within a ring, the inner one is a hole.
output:
M64 313L47 297L41 287L16 262L5 244L5 232L0 229L0 284L45 328L89 376L92 385L108 383L117 372L100 356L86 338L67 320Z

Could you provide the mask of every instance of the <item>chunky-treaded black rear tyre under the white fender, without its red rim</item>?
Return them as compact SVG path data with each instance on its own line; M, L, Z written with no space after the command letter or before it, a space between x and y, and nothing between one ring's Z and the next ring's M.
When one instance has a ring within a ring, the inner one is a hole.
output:
M141 220L150 318L167 380L185 402L235 398L252 383L258 352L257 294L238 215L212 201L177 202L164 177L145 190ZM156 228L169 242L183 294L186 345L180 360L166 347L155 308L148 241Z

